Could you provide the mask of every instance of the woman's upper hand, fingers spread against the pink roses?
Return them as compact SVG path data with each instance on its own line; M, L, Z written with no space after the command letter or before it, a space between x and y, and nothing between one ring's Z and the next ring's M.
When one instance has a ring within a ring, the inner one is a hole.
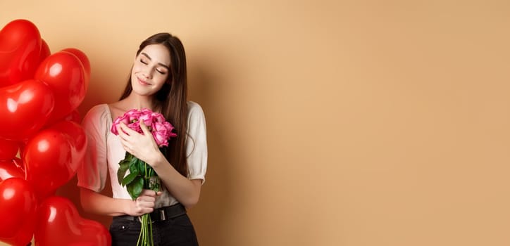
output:
M147 126L140 122L140 128L143 134L130 129L126 124L118 124L117 131L120 137L120 143L123 145L125 151L135 155L139 160L147 162L151 165L154 163L154 158L161 153L158 149L156 141Z

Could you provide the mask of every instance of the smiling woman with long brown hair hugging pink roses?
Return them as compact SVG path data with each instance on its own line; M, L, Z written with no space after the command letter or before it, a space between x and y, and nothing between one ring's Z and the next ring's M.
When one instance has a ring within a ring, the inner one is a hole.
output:
M173 124L178 136L170 139L168 148L159 150L150 134L138 134L125 124L118 127L118 136L111 133L112 121L133 108L161 112ZM87 212L113 216L112 245L136 245L141 226L138 216L147 213L153 220L154 245L198 245L185 208L197 204L205 181L206 122L201 107L187 101L181 41L168 33L143 41L120 101L94 106L82 126L89 143L85 164L77 175L82 207ZM132 200L119 185L118 162L126 151L156 171L161 179L160 192L143 190ZM112 198L100 193L107 173Z

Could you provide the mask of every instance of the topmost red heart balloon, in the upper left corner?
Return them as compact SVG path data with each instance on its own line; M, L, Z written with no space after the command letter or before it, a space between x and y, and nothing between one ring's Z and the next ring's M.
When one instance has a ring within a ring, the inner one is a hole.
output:
M29 20L13 20L0 31L0 86L32 79L39 65L41 34Z

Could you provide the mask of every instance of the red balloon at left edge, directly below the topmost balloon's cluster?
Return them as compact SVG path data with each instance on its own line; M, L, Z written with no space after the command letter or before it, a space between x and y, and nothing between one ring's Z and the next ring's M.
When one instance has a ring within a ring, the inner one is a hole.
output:
M35 79L0 88L0 137L29 138L44 126L54 105L49 86Z

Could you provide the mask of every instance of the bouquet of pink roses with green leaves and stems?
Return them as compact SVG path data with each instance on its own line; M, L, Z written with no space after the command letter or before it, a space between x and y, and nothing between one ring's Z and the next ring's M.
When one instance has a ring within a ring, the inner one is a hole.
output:
M140 124L145 124L152 136L154 141L161 148L168 146L168 139L177 136L173 133L173 126L170 122L167 122L165 117L157 112L152 112L147 108L142 110L132 109L125 112L124 115L115 119L111 126L111 132L118 135L117 127L120 122L126 124L130 129L143 134ZM123 160L118 162L120 165L117 171L118 183L122 186L126 186L128 193L131 198L135 200L138 198L143 189L149 189L158 191L159 190L159 178L154 169L146 162L139 160L131 153L125 153ZM125 176L125 173L130 170L130 174ZM152 223L151 216L144 214L141 217L142 229L138 237L137 245L154 245L152 239Z

